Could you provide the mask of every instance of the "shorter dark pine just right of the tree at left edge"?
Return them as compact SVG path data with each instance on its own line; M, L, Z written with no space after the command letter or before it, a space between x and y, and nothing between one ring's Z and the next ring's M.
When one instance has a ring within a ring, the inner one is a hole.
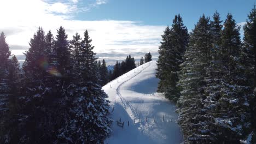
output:
M8 86L10 88L8 113L5 121L1 124L0 143L19 143L19 136L22 130L19 128L20 124L20 64L16 56L13 56L8 64ZM3 128L3 129L2 129ZM4 139L2 139L4 138Z

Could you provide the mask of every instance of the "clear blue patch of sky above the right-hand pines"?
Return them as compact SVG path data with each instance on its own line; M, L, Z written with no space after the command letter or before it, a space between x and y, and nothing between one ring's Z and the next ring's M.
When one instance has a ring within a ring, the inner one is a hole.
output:
M106 4L75 16L78 20L129 20L146 25L171 25L174 15L181 14L185 25L192 29L202 14L212 16L217 10L222 19L226 14L244 22L255 0L108 0ZM80 2L84 3L84 2Z

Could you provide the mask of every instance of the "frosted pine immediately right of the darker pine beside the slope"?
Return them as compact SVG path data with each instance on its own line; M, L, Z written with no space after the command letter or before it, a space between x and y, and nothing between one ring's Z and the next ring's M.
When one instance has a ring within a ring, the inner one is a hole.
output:
M211 49L210 18L203 15L190 35L190 42L185 52L185 61L181 64L181 97L178 100L178 123L184 134L184 143L207 143L211 137L205 135L206 98L205 68L209 65Z

